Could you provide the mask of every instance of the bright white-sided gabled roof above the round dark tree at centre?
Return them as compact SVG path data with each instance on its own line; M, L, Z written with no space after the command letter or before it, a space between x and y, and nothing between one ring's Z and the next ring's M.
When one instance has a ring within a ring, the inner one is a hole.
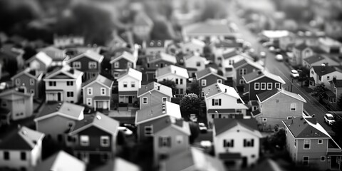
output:
M166 76L168 74L180 76L182 78L189 78L189 74L187 73L187 69L181 68L179 66L165 66L163 68L158 68L155 72L155 78L160 78L162 76Z

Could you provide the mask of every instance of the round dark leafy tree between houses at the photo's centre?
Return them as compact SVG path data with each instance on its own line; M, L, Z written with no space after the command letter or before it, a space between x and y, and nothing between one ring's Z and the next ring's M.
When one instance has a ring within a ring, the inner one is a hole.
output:
M182 114L188 115L190 113L198 113L200 109L201 100L195 93L185 94L180 100L180 110Z

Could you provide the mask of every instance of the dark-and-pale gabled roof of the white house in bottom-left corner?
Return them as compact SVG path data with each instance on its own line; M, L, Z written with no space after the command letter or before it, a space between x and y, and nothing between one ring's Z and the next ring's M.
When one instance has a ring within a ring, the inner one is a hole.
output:
M0 142L1 150L32 150L36 143L43 140L44 134L25 126L9 134Z

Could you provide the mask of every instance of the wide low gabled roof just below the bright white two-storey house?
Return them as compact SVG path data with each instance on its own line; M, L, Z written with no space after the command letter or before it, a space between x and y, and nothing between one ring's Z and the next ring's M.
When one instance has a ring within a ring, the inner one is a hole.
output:
M34 121L51 118L55 115L61 115L73 120L81 120L83 119L83 110L83 106L68 102L46 104Z

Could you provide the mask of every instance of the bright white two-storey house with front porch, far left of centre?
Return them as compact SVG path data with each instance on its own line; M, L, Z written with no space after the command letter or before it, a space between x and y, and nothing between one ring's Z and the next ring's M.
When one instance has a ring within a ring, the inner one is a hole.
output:
M83 72L63 66L56 68L48 73L45 81L46 102L48 101L67 101L78 103L81 98Z

